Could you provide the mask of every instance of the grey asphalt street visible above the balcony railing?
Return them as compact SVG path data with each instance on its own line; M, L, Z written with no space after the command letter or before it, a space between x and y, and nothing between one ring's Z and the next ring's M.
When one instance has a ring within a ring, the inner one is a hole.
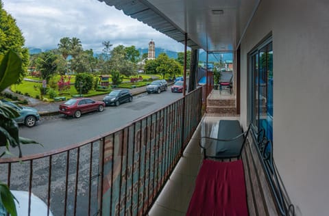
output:
M161 94L145 93L134 97L132 103L106 107L103 112L86 113L78 119L58 115L50 120L40 120L33 128L22 125L19 130L21 137L34 139L43 145L22 146L23 155L48 152L114 131L179 98L182 98L181 93L171 93L170 90ZM17 150L12 149L12 152L17 153Z

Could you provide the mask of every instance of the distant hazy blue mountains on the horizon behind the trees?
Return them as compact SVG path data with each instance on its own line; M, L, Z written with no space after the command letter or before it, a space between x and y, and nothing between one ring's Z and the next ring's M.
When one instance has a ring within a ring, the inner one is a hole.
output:
M34 47L30 47L28 48L29 49L29 54L38 54L38 53L41 53L42 49L40 48L34 48ZM144 48L144 49L141 49L141 48L138 48L137 49L139 51L139 53L141 55L143 55L143 53L147 53L147 48ZM45 50L47 51L47 50ZM170 58L173 58L173 59L177 59L178 57L178 52L175 52L175 51L169 51L167 49L162 49L160 47L156 47L156 57L158 57L158 55L160 53L166 53ZM101 53L95 53L95 57L99 56ZM207 55L206 55L206 52L205 51L200 51L199 53L199 62L206 62L206 58L207 58ZM230 60L232 61L233 60L233 54L232 53L221 53L221 54L209 54L208 55L208 62L219 62L220 60L222 61L227 61L227 60Z

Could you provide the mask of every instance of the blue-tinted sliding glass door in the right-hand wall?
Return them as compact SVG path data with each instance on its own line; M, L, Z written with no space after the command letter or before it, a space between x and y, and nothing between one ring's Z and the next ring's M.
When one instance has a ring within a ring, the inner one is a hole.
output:
M273 48L271 40L249 55L251 120L273 141Z

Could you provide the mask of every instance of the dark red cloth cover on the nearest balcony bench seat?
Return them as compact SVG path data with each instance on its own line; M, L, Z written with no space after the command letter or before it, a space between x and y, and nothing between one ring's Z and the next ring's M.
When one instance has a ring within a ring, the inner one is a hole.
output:
M248 215L242 161L204 160L186 215Z

